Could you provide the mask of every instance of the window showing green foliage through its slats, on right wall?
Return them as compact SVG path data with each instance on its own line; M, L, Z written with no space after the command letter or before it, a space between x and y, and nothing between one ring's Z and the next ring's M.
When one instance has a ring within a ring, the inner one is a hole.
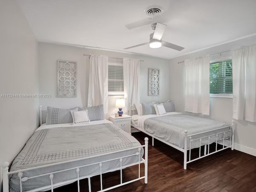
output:
M210 63L210 94L225 94L228 96L227 94L232 93L232 60Z

